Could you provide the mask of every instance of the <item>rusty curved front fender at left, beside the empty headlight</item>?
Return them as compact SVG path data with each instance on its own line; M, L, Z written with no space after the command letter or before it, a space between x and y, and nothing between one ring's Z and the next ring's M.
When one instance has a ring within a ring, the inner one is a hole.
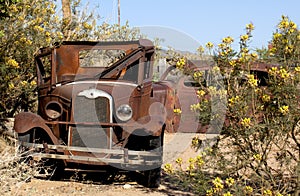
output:
M48 134L53 144L59 144L58 139L46 125L45 120L39 115L31 112L22 112L15 116L14 130L17 133L26 133L27 131L37 127L43 129Z

